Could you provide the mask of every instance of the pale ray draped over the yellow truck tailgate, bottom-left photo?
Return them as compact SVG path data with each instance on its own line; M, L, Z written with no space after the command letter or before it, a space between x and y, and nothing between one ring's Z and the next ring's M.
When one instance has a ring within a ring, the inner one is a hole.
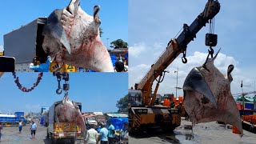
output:
M68 99L65 94L62 103L55 107L55 122L74 122L81 127L81 131L85 134L86 126L79 110L79 106Z

